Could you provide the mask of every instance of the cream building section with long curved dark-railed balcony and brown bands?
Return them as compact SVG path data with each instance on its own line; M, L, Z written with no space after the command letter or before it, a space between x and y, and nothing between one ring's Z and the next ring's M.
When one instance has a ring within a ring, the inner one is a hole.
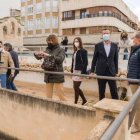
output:
M60 35L93 35L138 30L138 17L123 0L61 0Z

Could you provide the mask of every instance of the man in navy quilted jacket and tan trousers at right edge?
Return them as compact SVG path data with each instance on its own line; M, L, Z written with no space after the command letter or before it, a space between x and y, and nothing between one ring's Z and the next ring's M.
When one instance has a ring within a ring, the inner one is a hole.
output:
M133 50L128 62L128 78L140 79L140 32L136 33L133 39ZM140 83L129 82L132 94L140 86ZM131 128L131 133L140 132L140 99L135 106L135 119Z

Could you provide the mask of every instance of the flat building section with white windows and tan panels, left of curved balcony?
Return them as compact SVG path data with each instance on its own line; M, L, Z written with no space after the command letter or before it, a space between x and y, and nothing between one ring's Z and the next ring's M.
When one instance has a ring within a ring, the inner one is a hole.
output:
M21 0L24 37L58 34L58 0Z

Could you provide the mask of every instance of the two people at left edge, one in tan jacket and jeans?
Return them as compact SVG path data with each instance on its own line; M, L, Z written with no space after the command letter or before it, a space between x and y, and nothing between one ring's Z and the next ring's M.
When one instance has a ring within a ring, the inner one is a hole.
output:
M3 44L0 41L0 82L2 88L17 91L14 79L19 70L7 69L8 67L19 68L18 54L13 50L10 43Z

